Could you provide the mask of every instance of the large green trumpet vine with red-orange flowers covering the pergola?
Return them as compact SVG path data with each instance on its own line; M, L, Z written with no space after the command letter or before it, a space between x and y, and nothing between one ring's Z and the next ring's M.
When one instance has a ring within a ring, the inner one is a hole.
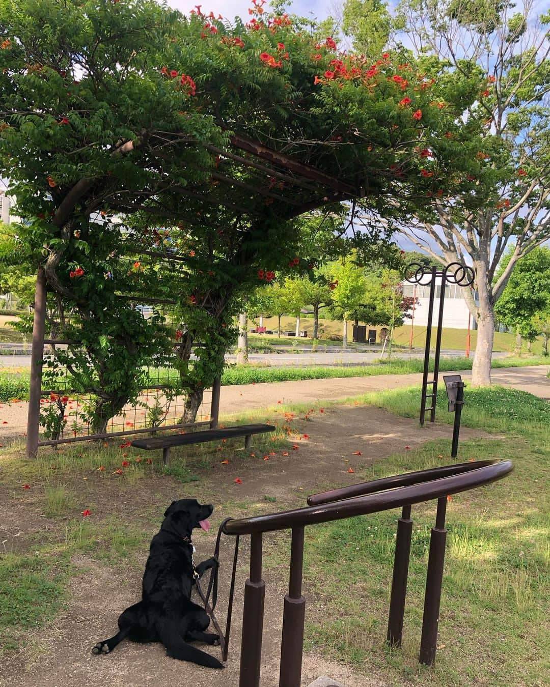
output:
M469 84L399 76L401 54L371 65L339 53L299 17L256 3L232 25L152 0L0 0L0 10L0 174L34 267L71 313L61 333L89 348L72 355L93 382L98 427L175 337L193 417L243 299L268 273L306 275L326 259L298 217L320 232L336 216L331 242L363 251L385 232L355 231L355 199L401 221L456 171L449 157L426 177L414 150L462 128ZM444 96L456 103L428 106ZM296 166L315 178L295 183ZM129 299L152 293L176 301L175 333L136 317Z

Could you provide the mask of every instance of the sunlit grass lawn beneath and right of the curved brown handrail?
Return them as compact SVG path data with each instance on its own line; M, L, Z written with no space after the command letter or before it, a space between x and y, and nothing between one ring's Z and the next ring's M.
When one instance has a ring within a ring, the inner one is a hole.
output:
M419 390L369 394L355 403L416 417ZM438 420L452 421L440 396ZM437 660L418 664L434 504L413 506L403 648L386 635L396 513L311 527L305 552L307 647L369 669L391 685L545 685L549 673L550 405L523 392L468 390L463 425L501 436L461 442L460 461L510 458L515 471L448 504ZM448 463L429 442L376 462L358 481ZM445 456L445 457L443 457ZM358 471L359 472L359 471ZM319 612L319 607L322 612ZM546 676L546 677L544 677Z

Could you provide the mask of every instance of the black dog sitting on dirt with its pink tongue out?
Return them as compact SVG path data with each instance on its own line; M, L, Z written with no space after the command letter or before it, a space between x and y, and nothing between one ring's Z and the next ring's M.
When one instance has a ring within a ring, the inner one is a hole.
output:
M127 608L118 618L114 637L98 642L92 653L113 651L124 638L132 642L162 642L172 658L192 661L199 666L223 668L223 664L187 642L219 644L219 636L205 632L210 618L190 599L195 583L191 541L193 528L210 529L208 517L214 506L201 506L195 499L173 501L164 513L158 534L151 541L145 565L142 600ZM214 565L214 559L199 563L200 577Z

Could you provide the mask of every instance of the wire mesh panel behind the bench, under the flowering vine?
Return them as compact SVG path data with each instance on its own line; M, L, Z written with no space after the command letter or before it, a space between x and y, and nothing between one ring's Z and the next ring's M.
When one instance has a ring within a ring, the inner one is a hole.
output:
M120 390L105 383L109 355L116 354L108 339L103 348L71 339L45 339L39 446L210 423L212 390L203 390L199 403L194 399L190 408L184 388L182 378L192 372L194 356L191 350L189 359L181 360L175 302L128 296L121 300L145 320L154 317L162 323L172 339L168 350L153 354L139 370L126 371L134 388L124 394L124 372ZM48 313L47 326L52 333L64 330L55 311Z

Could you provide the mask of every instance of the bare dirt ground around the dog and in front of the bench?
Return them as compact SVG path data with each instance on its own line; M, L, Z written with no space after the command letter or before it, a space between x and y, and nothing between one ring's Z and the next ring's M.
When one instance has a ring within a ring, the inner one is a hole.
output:
M265 399L264 399L265 403ZM316 413L309 421L303 420L300 431L309 439L296 440L298 449L289 455L281 453L270 460L258 455L232 459L230 464L215 462L210 469L203 469L203 480L181 485L170 477L156 477L127 484L110 478L102 480L93 473L83 482L82 475L74 476L74 488L85 493L87 502L96 504L94 513L117 515L126 521L139 521L145 507L162 513L172 498L194 495L199 500L215 504L212 531L200 532L195 544L197 559L201 560L212 551L214 530L227 515L239 513L267 513L281 506L305 505L308 493L325 486L340 486L357 481L348 473L349 466L361 469L373 460L384 458L406 446L418 447L426 440L446 438L450 441L448 425L432 425L420 429L416 420L397 418L372 407L333 407L324 413ZM463 429L462 438L483 436L483 433ZM256 444L257 445L257 444ZM353 455L361 451L362 455ZM256 451L258 453L258 451ZM263 453L263 452L259 452ZM241 477L243 484L234 484ZM276 498L276 504L266 503L264 496ZM5 504L0 513L2 539L21 537L45 532L47 528L63 528L63 522L44 519L38 503L32 495L13 495L8 490L1 494ZM95 500L94 500L95 499ZM100 504L102 511L100 511ZM3 516L3 517L2 517ZM99 517L99 516L98 516ZM151 534L154 530L151 530ZM275 548L278 553L284 547L286 534L265 537L265 552ZM219 620L224 627L225 594L230 574L229 551L222 552L221 602ZM237 581L234 611L234 629L228 667L222 671L210 671L194 664L181 663L166 657L159 644L137 645L122 643L112 655L96 657L90 653L98 640L114 633L116 619L122 609L137 600L142 570L113 571L94 559L94 554L74 560L82 572L72 578L70 601L65 612L40 631L28 635L28 644L17 655L10 656L0 666L0 685L5 687L146 687L148 685L186 684L196 687L236 687L239 673L239 648L241 644L242 592L247 576L248 542L243 541L241 564ZM284 550L284 549L283 549ZM143 563L146 550L142 552ZM388 572L388 575L391 574ZM262 687L278 684L278 660L281 638L283 596L287 585L286 574L280 578L274 573L265 574L267 591L265 599L265 624L263 637ZM305 596L310 604L314 600ZM216 650L212 650L215 651ZM347 687L384 687L384 683L369 671L371 677L351 671L339 663L329 663L318 655L308 653L304 658L303 684L309 684L319 675L330 675Z

